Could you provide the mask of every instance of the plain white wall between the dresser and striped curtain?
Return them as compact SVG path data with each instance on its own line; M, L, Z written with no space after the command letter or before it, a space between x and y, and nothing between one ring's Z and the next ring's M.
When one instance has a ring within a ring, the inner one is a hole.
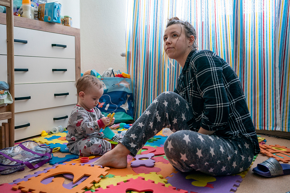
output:
M109 67L126 72L127 0L81 0L81 73Z

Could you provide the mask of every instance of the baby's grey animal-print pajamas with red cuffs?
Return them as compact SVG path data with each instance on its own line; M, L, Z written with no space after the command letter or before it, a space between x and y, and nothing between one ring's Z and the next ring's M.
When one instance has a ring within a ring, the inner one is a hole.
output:
M76 105L68 121L66 140L70 152L79 156L103 155L111 150L110 142L100 133L98 121L104 117L95 107L88 111Z

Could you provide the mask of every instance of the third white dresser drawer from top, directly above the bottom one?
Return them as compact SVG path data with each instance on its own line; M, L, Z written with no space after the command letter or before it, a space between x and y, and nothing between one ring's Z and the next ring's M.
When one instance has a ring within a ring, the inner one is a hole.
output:
M77 103L74 82L15 84L14 90L15 113Z

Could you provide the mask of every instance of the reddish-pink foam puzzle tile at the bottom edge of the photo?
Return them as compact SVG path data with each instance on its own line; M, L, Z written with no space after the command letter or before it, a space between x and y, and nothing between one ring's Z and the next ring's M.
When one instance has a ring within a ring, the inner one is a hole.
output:
M119 182L116 186L108 185L106 189L98 188L95 191L97 193L111 193L111 192L126 192L127 190L137 192L166 192L166 193L188 193L185 190L175 190L175 187L165 187L163 183L155 184L152 180L144 180L144 177L138 177L137 179L128 179L127 182ZM91 193L86 191L85 193Z

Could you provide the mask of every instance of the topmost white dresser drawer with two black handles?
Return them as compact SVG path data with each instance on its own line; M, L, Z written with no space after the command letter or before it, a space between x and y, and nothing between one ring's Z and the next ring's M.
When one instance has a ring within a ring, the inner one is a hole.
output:
M0 32L3 31L1 26ZM4 25L6 29L6 26ZM6 41L6 30L4 39ZM15 40L27 43L15 42ZM0 40L3 42L3 37ZM53 46L52 46L53 45ZM66 47L59 47L60 45ZM7 54L5 47L1 46L0 54ZM14 27L14 55L15 56L40 56L52 58L75 58L75 36L56 34L22 27Z

